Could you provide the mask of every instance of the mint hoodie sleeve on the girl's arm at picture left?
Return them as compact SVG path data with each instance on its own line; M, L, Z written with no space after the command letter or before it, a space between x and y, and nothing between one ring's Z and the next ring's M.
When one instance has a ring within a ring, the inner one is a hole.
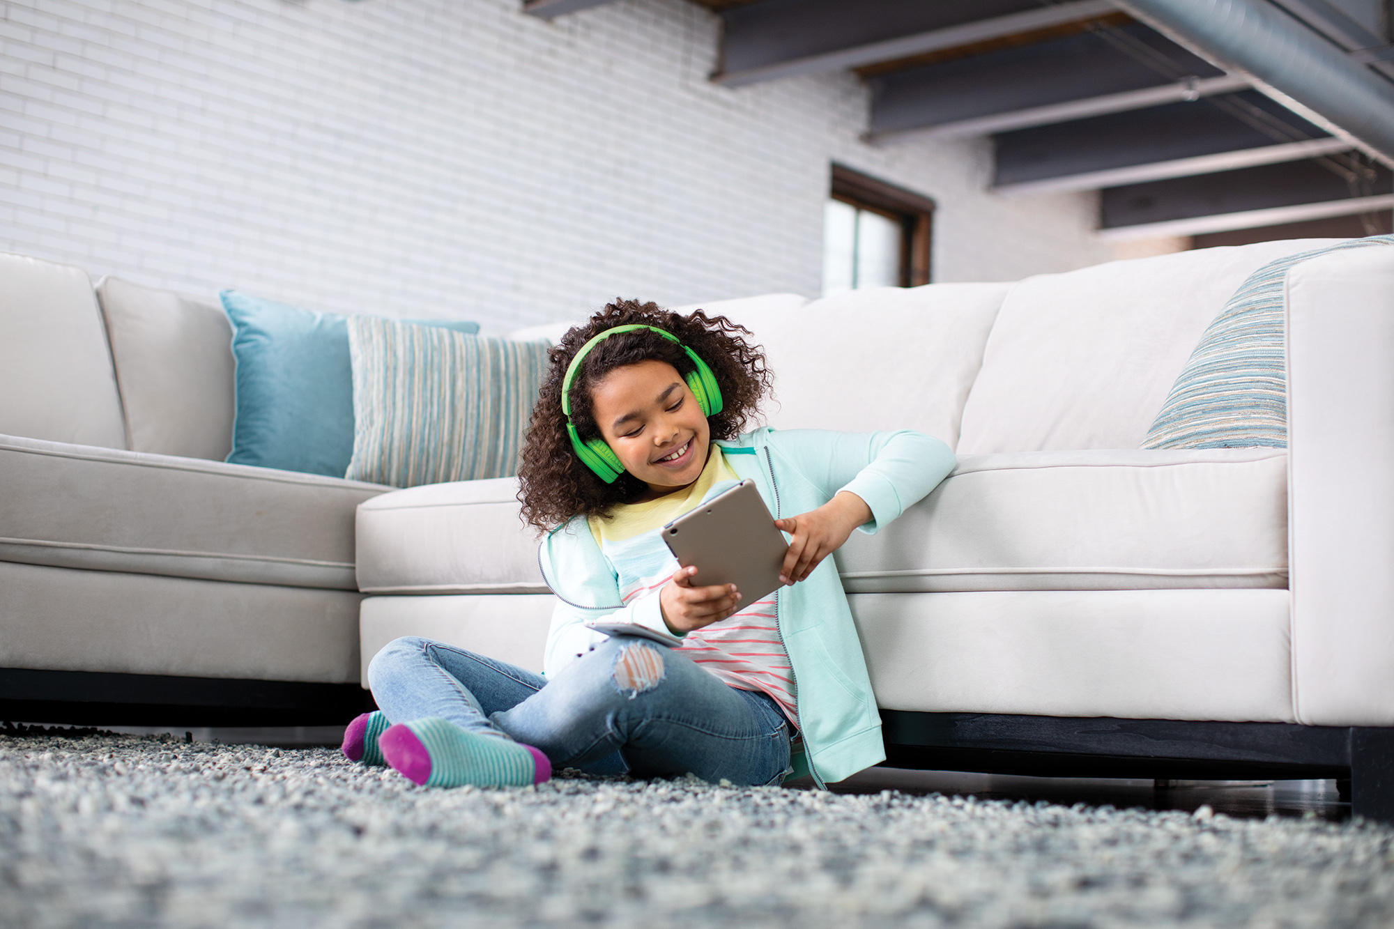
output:
M671 644L682 642L664 622L658 591L625 604L613 569L601 554L584 519L573 519L553 530L538 548L542 579L556 596L552 626L546 633L542 675L555 677L609 636L587 628L587 622L629 622L659 633Z

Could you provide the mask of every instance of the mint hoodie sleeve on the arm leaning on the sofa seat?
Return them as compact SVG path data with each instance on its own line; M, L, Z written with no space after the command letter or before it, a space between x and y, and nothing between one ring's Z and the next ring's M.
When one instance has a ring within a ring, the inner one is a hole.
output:
M912 430L790 430L771 432L769 444L828 499L843 490L864 499L871 508L871 522L860 529L868 534L928 495L956 463L948 445Z

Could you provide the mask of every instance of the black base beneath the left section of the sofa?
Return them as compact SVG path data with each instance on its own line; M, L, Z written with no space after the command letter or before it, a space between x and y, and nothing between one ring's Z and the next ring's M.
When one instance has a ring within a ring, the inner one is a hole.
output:
M374 709L357 683L0 668L0 720L14 723L342 725Z

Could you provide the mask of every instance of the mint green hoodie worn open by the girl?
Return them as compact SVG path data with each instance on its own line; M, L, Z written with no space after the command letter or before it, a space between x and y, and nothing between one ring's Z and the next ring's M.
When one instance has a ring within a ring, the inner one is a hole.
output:
M948 445L912 431L761 428L718 445L742 480L756 481L775 519L806 513L846 490L871 509L871 522L860 527L864 533L877 531L934 490L955 463ZM588 619L638 622L680 642L664 622L657 591L622 604L615 572L584 516L542 540L538 564L559 598L546 640L546 677L606 637L587 629ZM795 777L807 773L825 787L884 762L881 716L834 559L825 558L802 582L781 587L775 615L793 667L807 766L803 770L796 762Z

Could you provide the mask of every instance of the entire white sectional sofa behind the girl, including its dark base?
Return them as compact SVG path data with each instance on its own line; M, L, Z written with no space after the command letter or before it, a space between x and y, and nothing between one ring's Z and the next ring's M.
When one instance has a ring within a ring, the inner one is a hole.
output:
M958 453L838 554L892 764L1337 777L1394 815L1394 248L1288 273L1291 448L1140 448L1235 287L1323 244L704 304L767 347L772 425L912 427ZM216 305L107 279L99 307L81 271L18 257L0 275L24 282L0 292L0 682L294 683L323 714L401 635L539 667L551 594L512 478L223 464L231 378L209 363L139 411L205 428L202 452L142 445L127 375L169 347L132 352L116 303L197 315L185 342L209 352Z

